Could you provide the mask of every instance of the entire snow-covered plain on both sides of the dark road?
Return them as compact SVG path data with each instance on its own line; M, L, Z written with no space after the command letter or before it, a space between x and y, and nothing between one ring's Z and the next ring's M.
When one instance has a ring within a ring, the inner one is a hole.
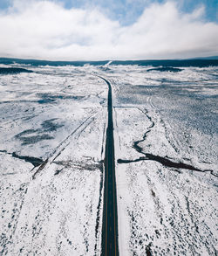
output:
M0 76L2 255L100 254L107 85L96 75L112 84L119 254L216 255L217 67L27 68Z

